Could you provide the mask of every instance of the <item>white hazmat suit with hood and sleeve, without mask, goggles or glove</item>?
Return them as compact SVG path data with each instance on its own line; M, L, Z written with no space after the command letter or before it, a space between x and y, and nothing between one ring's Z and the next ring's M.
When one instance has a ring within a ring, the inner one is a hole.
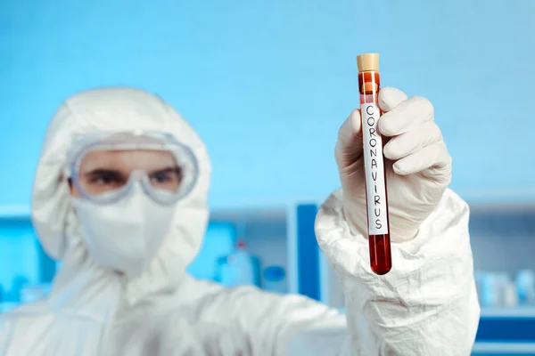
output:
M135 279L88 253L62 176L74 134L169 131L200 175L177 206L156 257ZM337 190L317 215L320 247L347 299L346 315L300 295L224 288L186 275L208 219L210 162L201 140L158 97L128 88L79 93L46 134L32 218L48 254L62 259L48 299L0 320L2 356L468 355L479 305L468 208L448 190L416 239L392 245L393 269L369 269L367 240L350 232ZM363 214L365 211L363 209Z

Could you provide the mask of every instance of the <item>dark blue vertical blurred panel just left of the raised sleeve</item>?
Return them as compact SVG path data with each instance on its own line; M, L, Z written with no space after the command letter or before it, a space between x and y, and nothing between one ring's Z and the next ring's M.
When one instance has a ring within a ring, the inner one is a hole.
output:
M319 254L314 231L317 206L297 206L297 265L299 293L319 300Z

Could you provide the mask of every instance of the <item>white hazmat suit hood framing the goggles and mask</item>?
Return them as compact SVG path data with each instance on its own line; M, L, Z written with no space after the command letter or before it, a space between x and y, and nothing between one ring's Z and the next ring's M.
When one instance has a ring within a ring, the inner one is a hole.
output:
M80 273L102 269L91 261L79 233L78 218L64 174L73 138L78 134L125 131L167 132L188 146L198 161L199 176L191 193L177 204L169 232L144 273L127 280L133 299L176 286L202 245L208 220L210 161L199 138L180 115L158 96L125 87L78 93L56 111L45 136L32 194L32 221L45 251L63 260L54 281L61 289ZM126 237L128 238L128 237ZM91 279L108 274L93 273ZM135 300L131 301L132 303Z

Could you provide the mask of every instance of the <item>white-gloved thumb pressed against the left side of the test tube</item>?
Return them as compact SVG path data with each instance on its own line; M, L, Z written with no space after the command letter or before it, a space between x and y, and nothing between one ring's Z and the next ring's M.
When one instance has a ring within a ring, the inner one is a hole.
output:
M362 157L362 130L360 110L354 109L340 130L336 142L335 158L339 168L345 168Z

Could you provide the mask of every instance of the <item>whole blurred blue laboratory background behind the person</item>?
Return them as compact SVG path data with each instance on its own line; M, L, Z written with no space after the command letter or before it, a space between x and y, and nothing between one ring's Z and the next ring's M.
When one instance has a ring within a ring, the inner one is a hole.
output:
M339 186L355 57L377 52L383 86L434 104L471 206L474 354L535 355L534 19L531 0L1 1L1 309L44 297L61 268L30 222L34 171L54 109L103 85L158 93L208 146L194 276L343 308L313 223Z

